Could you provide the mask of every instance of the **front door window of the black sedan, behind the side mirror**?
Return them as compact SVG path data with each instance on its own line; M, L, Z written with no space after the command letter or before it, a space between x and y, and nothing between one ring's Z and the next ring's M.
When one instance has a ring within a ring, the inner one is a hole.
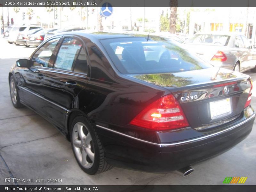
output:
M39 50L37 50L32 58L32 61L34 61L34 66L52 68L52 52L57 46L59 40L60 38L52 39L40 47Z

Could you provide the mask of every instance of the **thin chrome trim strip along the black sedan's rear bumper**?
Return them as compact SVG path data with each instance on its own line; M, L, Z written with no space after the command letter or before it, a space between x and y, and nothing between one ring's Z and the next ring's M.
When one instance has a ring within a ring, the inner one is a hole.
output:
M205 136L202 136L202 137L197 137L197 138L194 138L194 139L189 139L189 140L184 140L184 141L179 141L179 142L173 142L173 143L154 143L154 142L150 142L150 141L147 141L147 140L139 139L139 138L136 138L136 137L133 137L133 136L130 136L130 135L127 135L127 134L124 134L124 133L121 133L121 132L109 129L107 127L103 127L103 126L98 125L98 124L96 126L102 128L102 129L105 129L107 131L114 132L116 134L123 135L125 137L137 140L137 141L141 141L141 142L148 143L148 144L151 144L151 145L156 145L156 146L164 147L164 146L173 146L173 145L180 145L180 144L190 143L190 142L194 142L194 141L203 140L203 139L206 139L208 137L212 137L214 135L219 135L220 133L227 132L229 130L232 130L232 129L234 129L234 128L236 128L236 127L238 127L238 126L240 126L240 125L250 121L254 117L255 117L255 113L253 113L250 117L244 119L242 122L240 122L240 123L238 123L236 125L233 125L231 127L228 127L227 129L221 130L219 132L215 132L215 133L212 133L212 134L209 134L209 135L205 135Z

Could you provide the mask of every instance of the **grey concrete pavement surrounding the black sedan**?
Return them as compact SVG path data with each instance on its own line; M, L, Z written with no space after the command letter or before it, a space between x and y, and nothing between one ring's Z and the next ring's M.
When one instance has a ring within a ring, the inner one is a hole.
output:
M48 185L221 185L225 177L247 177L243 185L255 184L255 123L244 141L220 156L192 166L195 171L186 178L176 172L154 174L120 168L87 175L76 163L69 141L57 129L30 109L12 106L10 67L16 60L28 58L36 48L8 44L4 38L0 38L0 47L0 185L15 185L5 183L6 177L62 179L62 183L44 183ZM256 74L246 74L252 76L256 87ZM252 96L251 105L256 108L256 88Z

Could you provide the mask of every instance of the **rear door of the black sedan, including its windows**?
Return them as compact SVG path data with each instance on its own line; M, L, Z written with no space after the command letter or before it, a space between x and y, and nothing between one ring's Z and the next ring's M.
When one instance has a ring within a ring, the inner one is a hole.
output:
M83 41L64 37L53 68L44 72L44 109L58 127L65 127L67 113L78 102L76 96L89 79L87 61Z

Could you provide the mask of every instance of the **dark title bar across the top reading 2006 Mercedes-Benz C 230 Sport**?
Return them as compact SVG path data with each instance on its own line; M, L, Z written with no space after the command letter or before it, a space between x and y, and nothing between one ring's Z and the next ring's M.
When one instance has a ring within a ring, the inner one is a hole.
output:
M255 0L0 0L3 7L256 7Z

